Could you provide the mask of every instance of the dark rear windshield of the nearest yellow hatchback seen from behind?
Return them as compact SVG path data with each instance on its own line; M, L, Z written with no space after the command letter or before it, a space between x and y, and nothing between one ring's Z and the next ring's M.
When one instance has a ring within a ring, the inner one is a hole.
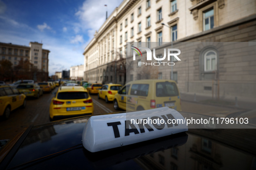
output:
M84 99L88 97L88 93L83 91L60 92L57 96L58 99L62 100Z

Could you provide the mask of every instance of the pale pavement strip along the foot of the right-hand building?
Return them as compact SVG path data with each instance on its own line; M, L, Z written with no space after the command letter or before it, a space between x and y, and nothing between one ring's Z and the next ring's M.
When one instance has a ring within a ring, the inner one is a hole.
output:
M207 104L213 106L230 107L243 110L256 110L256 97L244 98L244 97L225 97L217 100L212 98L211 95L201 93L182 92L181 101L194 102L198 104Z

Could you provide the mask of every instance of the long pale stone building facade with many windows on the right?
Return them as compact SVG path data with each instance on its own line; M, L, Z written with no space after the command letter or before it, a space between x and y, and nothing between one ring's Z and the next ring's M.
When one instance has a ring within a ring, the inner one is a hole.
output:
M84 79L142 79L123 60L131 46L155 48L159 58L173 47L181 61L158 67L158 79L174 79L181 92L255 98L255 41L254 0L124 0L84 49Z

